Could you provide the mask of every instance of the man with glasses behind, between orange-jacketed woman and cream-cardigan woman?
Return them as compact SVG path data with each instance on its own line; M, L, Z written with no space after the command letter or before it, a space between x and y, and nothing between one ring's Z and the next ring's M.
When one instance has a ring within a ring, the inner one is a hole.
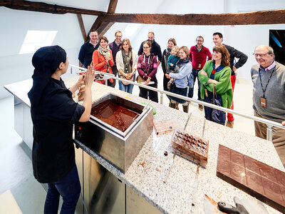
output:
M123 34L121 31L116 31L115 40L109 44L110 50L112 51L113 60L114 60L114 66L112 66L112 72L115 76L117 76L117 73L118 73L118 69L115 63L115 56L117 52L120 51L120 46L122 45L122 36ZM113 83L111 82L109 83L108 81L108 86L115 88L115 79L113 79Z

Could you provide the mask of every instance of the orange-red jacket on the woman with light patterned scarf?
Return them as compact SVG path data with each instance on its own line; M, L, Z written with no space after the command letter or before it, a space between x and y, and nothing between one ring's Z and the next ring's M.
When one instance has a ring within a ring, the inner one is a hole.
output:
M99 52L97 50L95 50L93 52L93 57L92 57L92 62L93 62L93 66L94 66L94 70L96 71L101 71L101 72L107 72L107 63L105 61L105 58L102 54L100 54L99 56ZM113 61L113 56L112 56L112 51L110 50L110 59L109 59L109 70L108 73L113 73L112 72L112 68L111 66L114 65L114 61ZM111 83L113 83L113 78L110 78L109 81ZM96 81L97 83L104 83L105 81Z

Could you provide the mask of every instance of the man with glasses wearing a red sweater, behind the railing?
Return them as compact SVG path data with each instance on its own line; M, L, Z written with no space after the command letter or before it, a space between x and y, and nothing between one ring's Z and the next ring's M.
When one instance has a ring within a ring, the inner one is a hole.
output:
M204 67L206 61L212 59L212 54L205 46L203 46L204 38L202 36L197 36L196 45L190 48L189 58L192 62L192 75L193 75L193 87L188 90L188 97L193 97L194 84L196 78L198 78L198 72ZM201 99L201 83L198 79L198 101L202 101ZM199 104L199 110L203 111L203 106Z

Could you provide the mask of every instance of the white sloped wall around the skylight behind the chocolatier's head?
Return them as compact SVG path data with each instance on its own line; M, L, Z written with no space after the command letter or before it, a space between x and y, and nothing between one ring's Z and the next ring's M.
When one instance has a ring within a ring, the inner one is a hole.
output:
M52 45L66 50L69 61L78 64L78 51L83 44L76 14L46 14L17 11L0 7L0 98L9 96L4 85L31 78L33 54L19 51L28 30L56 30Z

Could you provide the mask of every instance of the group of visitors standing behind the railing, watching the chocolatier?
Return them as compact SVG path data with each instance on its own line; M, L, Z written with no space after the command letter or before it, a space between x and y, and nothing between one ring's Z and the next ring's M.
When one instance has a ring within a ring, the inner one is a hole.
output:
M167 48L161 53L160 45L155 41L155 34L150 31L147 34L147 40L140 45L138 55L133 51L128 39L121 41L123 35L120 31L115 33L115 41L109 45L105 36L100 37L97 44L96 31L91 30L89 36L90 41L83 44L78 57L83 66L91 65L95 70L106 71L114 75L119 73L121 78L132 81L135 81L135 71L138 70L138 82L157 88L156 73L161 63L165 74L163 77L165 91L192 98L195 82L198 80L199 101L211 102L214 98L224 108L234 109L233 93L236 71L247 62L248 57L242 51L223 44L221 33L216 32L212 35L214 43L212 54L207 47L203 46L202 36L197 36L195 46L191 46L190 49L187 46L179 48L175 39L171 38L167 41ZM96 49L99 50L96 51ZM105 57L103 53L99 53L100 49L110 51L110 53ZM87 56L88 52L92 54ZM82 53L86 53L85 57ZM98 55L102 55L99 60ZM269 46L257 46L254 49L254 56L258 63L252 67L251 71L254 84L254 115L281 123L285 121L285 67L274 61L274 51ZM123 81L119 81L119 84L120 90L132 93L133 84L127 85L128 83L124 84ZM108 83L108 85L115 86L115 83ZM140 96L158 101L156 91L142 87L140 87ZM178 109L178 104L182 103L183 111L188 112L189 102L174 96L167 97L170 99L171 108ZM200 104L198 108L203 110ZM212 120L211 114L212 109L204 106L205 118ZM219 121L219 123L233 128L232 113L227 113L227 120L224 118L224 121ZM255 122L254 126L256 136L266 138L266 125ZM273 143L280 157L285 156L284 133L284 129L273 128ZM285 157L281 160L285 163Z

